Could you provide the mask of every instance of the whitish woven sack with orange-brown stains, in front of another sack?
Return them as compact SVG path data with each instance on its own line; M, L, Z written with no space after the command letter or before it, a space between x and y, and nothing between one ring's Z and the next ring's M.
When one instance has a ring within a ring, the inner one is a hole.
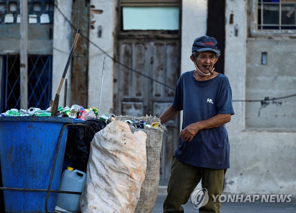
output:
M95 134L81 212L134 212L145 178L146 139L144 132L132 133L127 123L116 120Z

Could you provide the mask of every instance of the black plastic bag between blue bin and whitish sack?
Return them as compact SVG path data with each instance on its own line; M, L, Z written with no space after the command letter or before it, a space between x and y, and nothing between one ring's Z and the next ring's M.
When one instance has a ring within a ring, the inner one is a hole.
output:
M68 128L66 155L72 162L73 168L86 172L91 141L98 131L105 128L106 123L93 118L83 124L86 126Z

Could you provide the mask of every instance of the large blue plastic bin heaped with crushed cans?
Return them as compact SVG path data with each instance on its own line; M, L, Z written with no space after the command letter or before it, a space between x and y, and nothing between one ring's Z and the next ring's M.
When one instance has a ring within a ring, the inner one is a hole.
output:
M0 117L0 157L3 187L48 189L59 133L67 117ZM52 190L59 190L67 127L57 156ZM4 190L6 213L45 211L46 192ZM48 211L54 212L57 193L50 193Z

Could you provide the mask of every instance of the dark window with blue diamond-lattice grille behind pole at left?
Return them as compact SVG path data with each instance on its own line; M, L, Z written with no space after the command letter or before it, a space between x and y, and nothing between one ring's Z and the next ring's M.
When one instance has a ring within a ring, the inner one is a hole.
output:
M1 113L20 109L20 56L1 58ZM52 56L28 56L28 108L45 110L52 92Z

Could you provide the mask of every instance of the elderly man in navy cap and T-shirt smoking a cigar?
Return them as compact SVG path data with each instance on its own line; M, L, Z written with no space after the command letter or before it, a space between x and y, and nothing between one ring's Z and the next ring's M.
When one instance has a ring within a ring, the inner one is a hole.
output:
M165 123L183 110L163 212L184 212L181 205L186 204L200 180L209 200L196 208L199 212L220 212L221 202L214 202L213 196L222 194L229 168L230 145L224 124L231 120L234 110L228 78L213 68L219 56L215 38L194 40L190 59L196 69L181 75L172 105L160 116Z

